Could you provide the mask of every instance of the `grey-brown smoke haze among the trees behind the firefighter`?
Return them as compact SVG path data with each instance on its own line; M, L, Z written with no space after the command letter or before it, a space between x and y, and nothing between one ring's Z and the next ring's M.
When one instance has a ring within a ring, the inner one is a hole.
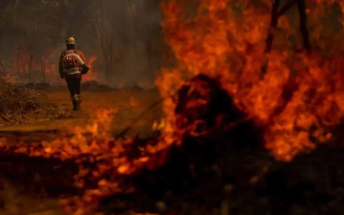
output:
M29 53L34 71L42 58L57 66L68 36L93 71L108 84L152 82L163 64L159 0L1 0L0 55L6 71L16 68L18 49ZM19 41L21 42L18 48ZM27 60L29 61L29 60ZM57 68L57 67L56 67ZM28 69L24 73L28 73ZM50 72L56 72L50 71ZM21 78L23 82L29 78ZM49 82L49 81L47 81Z

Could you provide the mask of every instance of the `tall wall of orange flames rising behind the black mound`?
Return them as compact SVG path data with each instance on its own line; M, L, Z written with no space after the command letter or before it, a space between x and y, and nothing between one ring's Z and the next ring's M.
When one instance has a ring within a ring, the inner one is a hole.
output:
M277 159L290 160L313 148L310 136L320 142L331 138L332 126L344 113L343 48L335 45L344 42L344 4L306 2L312 54L302 51L297 9L292 8L280 17L273 50L265 55L271 1L200 0L194 16L187 16L189 5L165 1L163 32L178 63L163 69L156 82L162 96L170 98L183 80L199 73L219 78L236 104L266 127L265 146ZM178 132L174 105L172 99L164 101L167 141Z

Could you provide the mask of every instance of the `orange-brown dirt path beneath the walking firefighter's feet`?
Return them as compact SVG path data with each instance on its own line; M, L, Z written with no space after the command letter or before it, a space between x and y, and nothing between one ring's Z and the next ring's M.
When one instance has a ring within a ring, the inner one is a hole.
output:
M150 91L106 91L83 93L82 111L71 110L71 101L68 92L41 92L47 98L66 108L70 118L0 127L0 138L7 138L10 142L38 142L51 141L70 132L76 126L85 126L92 115L100 109L115 109L111 130L114 133L121 132L131 124L143 110L151 103L158 100L159 95ZM130 131L135 133L148 133L154 121L161 117L161 109L158 107L147 113L139 120Z

